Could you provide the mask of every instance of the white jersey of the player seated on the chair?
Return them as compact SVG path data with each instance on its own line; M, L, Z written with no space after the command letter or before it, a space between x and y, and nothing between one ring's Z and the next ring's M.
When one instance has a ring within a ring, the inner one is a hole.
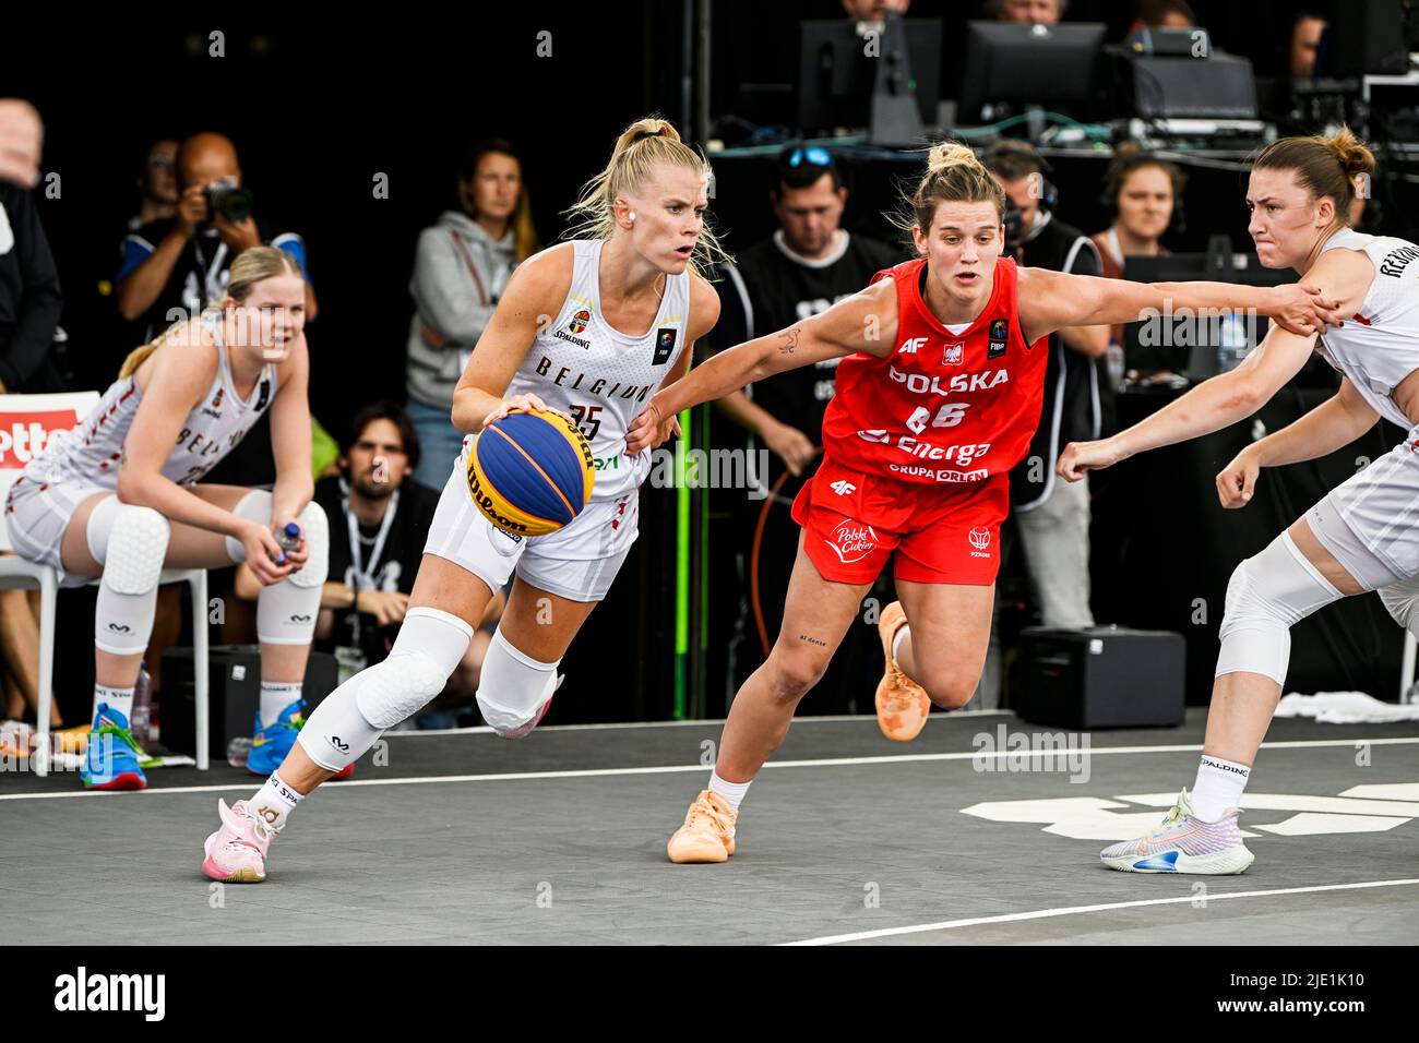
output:
M277 369L268 362L247 400L238 399L220 316L203 315L201 322L217 338L217 373L201 404L183 420L177 443L162 467L163 477L179 485L192 485L216 467L277 393ZM115 380L79 429L67 437L51 438L24 468L24 477L35 482L77 481L118 490L118 461L142 397L135 376Z

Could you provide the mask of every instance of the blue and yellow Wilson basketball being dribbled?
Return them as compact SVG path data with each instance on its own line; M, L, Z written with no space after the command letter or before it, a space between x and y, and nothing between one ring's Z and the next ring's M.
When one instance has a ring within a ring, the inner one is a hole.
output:
M576 424L552 412L509 413L468 450L468 492L482 515L515 536L556 532L592 495L596 465Z

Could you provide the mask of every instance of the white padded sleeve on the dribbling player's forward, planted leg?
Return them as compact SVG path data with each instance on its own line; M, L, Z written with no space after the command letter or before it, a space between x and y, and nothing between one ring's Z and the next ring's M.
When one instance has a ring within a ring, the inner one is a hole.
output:
M410 609L389 658L326 695L297 741L326 771L353 763L380 732L443 691L470 640L473 627L457 616L423 606Z

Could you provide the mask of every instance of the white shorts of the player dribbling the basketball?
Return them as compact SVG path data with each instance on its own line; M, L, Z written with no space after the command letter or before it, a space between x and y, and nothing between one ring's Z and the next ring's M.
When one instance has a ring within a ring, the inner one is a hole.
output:
M599 602L640 534L640 490L593 500L545 536L514 536L490 522L468 492L467 447L444 482L424 553L447 558L499 590L512 570L569 602Z

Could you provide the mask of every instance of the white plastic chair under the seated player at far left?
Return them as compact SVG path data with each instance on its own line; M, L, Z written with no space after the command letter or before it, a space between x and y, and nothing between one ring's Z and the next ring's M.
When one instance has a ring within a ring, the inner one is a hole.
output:
M34 424L48 436L50 431L68 430L82 421L99 400L98 392L72 392L65 394L0 394L0 505L4 504L10 485L20 477L27 461L17 460L14 429L23 427L27 434ZM9 436L9 441L6 437ZM14 551L10 531L6 526L4 511L0 509L0 551ZM96 582L96 580L95 580ZM207 734L210 728L207 708L207 570L206 569L163 569L160 583L187 583L192 589L192 633L193 633L193 687L196 695L197 769L207 771ZM54 605L60 590L60 578L48 565L37 565L16 553L0 555L0 590L40 589L40 705L38 745L31 755L34 773L50 773L50 717L54 688Z

